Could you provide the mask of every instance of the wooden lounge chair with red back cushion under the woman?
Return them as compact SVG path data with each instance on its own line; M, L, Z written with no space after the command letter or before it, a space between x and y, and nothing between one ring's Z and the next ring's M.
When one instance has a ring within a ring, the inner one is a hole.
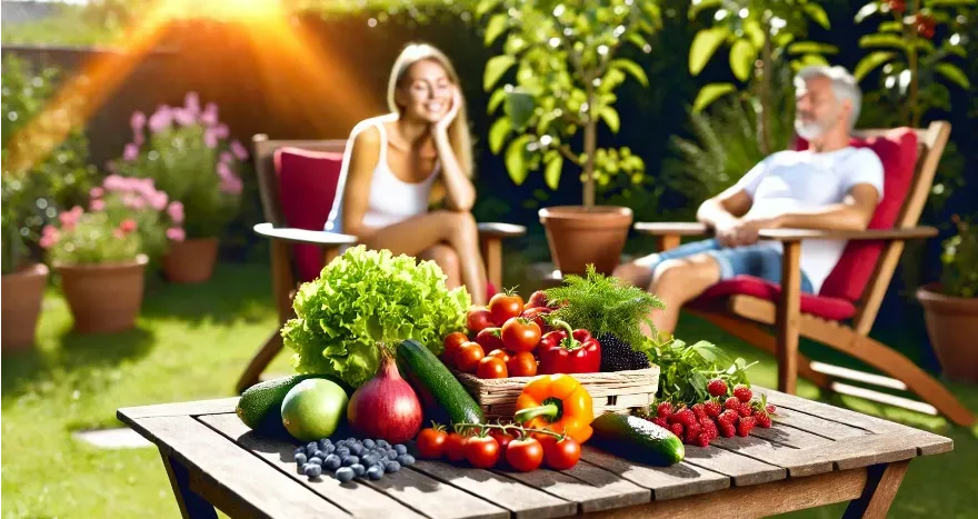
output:
M356 236L322 231L327 220L337 212L332 200L339 189L339 166L346 140L269 140L268 136L257 134L252 144L266 219L255 226L255 231L271 239L272 293L279 325L241 375L238 392L258 382L281 351L279 332L293 316L291 299L296 288L315 279L322 266L339 254L341 247L358 241ZM305 177L297 173L283 184L277 167L282 160L291 160L290 167L297 171L305 169ZM298 199L302 197L308 200ZM502 288L502 239L522 236L526 228L510 223L479 223L478 227L489 281L487 291L491 295Z

